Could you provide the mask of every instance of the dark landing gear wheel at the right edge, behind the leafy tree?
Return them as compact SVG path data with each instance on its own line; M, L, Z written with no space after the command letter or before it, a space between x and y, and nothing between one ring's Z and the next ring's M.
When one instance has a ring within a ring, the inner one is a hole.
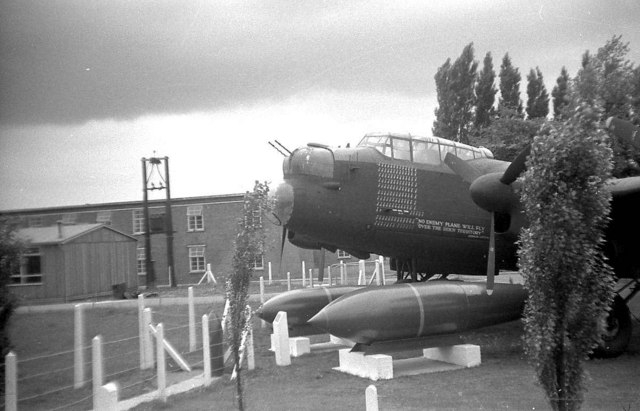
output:
M593 350L596 358L612 358L622 354L631 339L631 315L622 297L616 295L602 330L602 343Z

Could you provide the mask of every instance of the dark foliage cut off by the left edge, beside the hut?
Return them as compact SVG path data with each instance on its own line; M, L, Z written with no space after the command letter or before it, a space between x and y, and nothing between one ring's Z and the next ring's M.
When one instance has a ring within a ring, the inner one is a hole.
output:
M17 305L9 284L11 275L20 270L23 249L24 244L16 238L13 226L6 219L0 219L0 377L4 377L4 358L11 350L9 321ZM0 392L4 392L4 385Z

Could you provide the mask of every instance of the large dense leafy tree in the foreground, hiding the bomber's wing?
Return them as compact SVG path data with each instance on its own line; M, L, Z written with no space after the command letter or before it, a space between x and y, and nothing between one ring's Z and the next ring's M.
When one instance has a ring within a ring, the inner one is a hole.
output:
M522 184L530 222L519 251L529 294L525 351L554 410L580 407L582 362L600 339L599 322L614 296L613 272L601 249L611 149L599 114L581 103L537 136Z

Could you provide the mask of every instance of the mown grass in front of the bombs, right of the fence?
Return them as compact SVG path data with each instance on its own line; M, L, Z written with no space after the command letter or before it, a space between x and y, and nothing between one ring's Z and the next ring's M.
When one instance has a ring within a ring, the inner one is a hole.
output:
M634 301L635 315L640 301ZM629 350L608 360L586 363L589 374L584 410L640 408L640 324ZM289 367L275 365L268 349L269 330L256 328L257 369L245 373L247 410L364 410L365 389L374 384L381 410L547 410L544 392L536 384L522 351L519 321L466 335L482 347L477 368L400 377L372 382L332 370L336 352L312 353L292 359ZM169 398L166 404L149 403L136 410L233 410L235 385L228 375L212 387Z

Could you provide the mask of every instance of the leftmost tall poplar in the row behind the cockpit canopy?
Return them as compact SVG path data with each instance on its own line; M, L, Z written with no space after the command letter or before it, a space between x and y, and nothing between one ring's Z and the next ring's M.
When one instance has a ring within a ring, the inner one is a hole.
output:
M473 43L469 43L453 65L447 59L435 76L439 106L435 110L433 134L467 144L473 124L478 68L473 55Z

